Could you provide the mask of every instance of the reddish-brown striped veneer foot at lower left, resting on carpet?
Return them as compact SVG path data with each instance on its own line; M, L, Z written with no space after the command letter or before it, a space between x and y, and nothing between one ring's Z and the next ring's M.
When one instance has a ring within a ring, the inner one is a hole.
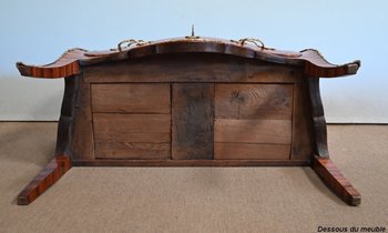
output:
M40 194L55 183L71 169L71 160L67 155L58 155L21 191L18 195L19 205L28 205Z

